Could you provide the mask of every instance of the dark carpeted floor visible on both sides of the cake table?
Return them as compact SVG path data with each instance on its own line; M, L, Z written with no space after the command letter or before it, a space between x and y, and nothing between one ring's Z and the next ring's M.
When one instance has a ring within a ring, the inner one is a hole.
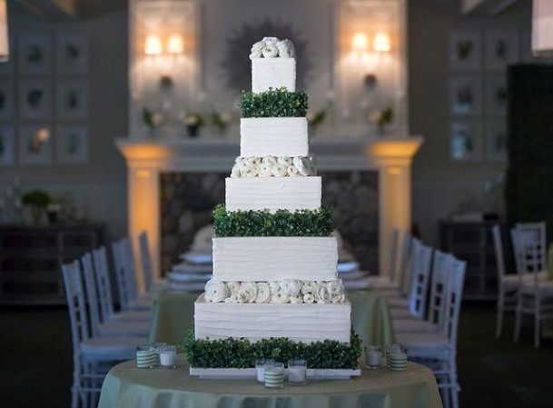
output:
M513 319L495 340L493 306L464 304L459 330L462 407L551 407L553 342L532 347L528 319L521 342L511 342ZM10 408L69 407L71 334L66 311L0 310L0 395Z

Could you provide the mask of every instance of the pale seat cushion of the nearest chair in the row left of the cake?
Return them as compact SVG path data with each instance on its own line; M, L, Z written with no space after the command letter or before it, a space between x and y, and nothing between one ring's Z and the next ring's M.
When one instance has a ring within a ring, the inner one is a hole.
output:
M134 358L136 347L148 343L146 337L119 336L84 340L81 353L84 357L106 357L114 360Z

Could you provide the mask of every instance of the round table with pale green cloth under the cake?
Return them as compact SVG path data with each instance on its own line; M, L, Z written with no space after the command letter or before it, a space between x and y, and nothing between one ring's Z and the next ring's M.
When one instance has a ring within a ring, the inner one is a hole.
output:
M253 380L200 380L188 374L183 355L177 368L137 369L129 361L107 374L98 408L439 408L438 386L429 368L408 363L400 373L362 370L360 377L312 381L265 389Z

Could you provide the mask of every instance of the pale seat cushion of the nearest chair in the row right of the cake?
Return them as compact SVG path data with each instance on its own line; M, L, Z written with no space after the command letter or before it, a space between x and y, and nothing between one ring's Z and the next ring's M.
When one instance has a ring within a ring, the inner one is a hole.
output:
M396 333L396 342L409 357L445 358L449 353L449 339L442 333Z

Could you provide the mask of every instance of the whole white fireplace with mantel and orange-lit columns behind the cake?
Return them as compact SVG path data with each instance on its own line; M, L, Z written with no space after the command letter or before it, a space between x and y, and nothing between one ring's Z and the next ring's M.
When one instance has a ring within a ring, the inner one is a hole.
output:
M421 143L415 136L310 143L323 176L323 201L336 205L336 224L344 241L353 243L351 252L373 273L389 273L393 229L410 228L410 165ZM153 270L161 276L192 239L190 234L174 233L175 214L177 224L190 224L184 225L187 232L210 222L211 206L223 201L222 180L239 146L217 139L129 138L116 144L128 167L129 234L136 245L136 236L148 232ZM212 193L198 195L206 186ZM197 214L182 213L185 207ZM172 218L164 220L163 214Z

